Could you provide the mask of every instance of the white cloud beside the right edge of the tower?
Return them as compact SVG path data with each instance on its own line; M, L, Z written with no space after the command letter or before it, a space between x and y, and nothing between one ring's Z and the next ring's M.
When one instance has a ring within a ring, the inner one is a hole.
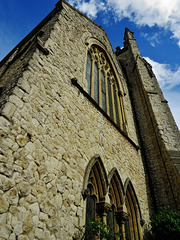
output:
M158 63L148 57L145 57L145 59L153 67L153 71L162 89L172 89L180 85L180 67L176 71L172 71L169 64Z

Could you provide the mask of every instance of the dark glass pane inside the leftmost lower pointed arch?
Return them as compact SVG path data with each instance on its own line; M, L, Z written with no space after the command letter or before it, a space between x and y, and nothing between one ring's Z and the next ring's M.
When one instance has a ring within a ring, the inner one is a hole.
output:
M92 231L90 231L89 220L94 219L95 201L91 195L87 196L86 200L86 232L85 240L94 240Z

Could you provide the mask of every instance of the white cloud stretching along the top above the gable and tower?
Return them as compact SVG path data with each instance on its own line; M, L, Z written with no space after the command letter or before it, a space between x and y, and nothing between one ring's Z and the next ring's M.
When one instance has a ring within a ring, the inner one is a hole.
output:
M116 21L127 17L139 26L168 29L180 47L179 0L69 0L69 3L92 18L100 11L110 11Z

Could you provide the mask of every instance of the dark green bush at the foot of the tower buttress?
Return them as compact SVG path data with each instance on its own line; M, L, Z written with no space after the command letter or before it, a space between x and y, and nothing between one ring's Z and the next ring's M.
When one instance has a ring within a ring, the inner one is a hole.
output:
M157 240L180 239L180 212L162 209L151 218L152 232Z

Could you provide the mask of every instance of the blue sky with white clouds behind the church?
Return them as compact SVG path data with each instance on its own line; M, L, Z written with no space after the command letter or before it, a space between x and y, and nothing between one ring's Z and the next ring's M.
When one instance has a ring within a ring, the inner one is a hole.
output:
M57 0L0 0L0 60L55 6ZM123 47L124 29L134 32L153 67L180 129L180 1L68 0L101 25L113 48Z

